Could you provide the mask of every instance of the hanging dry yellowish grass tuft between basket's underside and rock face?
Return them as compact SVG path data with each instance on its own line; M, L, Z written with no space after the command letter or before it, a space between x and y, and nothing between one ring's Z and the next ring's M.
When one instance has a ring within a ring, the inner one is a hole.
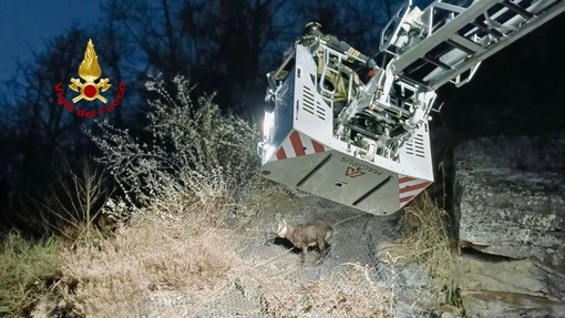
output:
M422 265L431 278L428 295L444 293L451 301L456 293L456 253L448 230L448 214L439 208L427 193L404 209L400 220L402 236L379 254L391 265ZM423 295L425 295L423 294Z

